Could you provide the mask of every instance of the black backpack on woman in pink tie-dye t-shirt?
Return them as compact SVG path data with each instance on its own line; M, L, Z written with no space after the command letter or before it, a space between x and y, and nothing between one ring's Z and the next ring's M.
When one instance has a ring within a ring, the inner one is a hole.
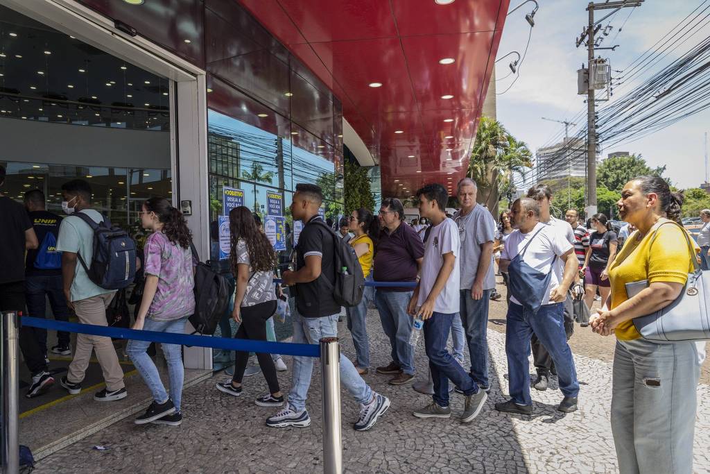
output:
M195 246L190 244L190 247L198 261L195 268L195 313L190 316L190 323L196 333L213 335L229 306L229 283L211 265L200 262Z

